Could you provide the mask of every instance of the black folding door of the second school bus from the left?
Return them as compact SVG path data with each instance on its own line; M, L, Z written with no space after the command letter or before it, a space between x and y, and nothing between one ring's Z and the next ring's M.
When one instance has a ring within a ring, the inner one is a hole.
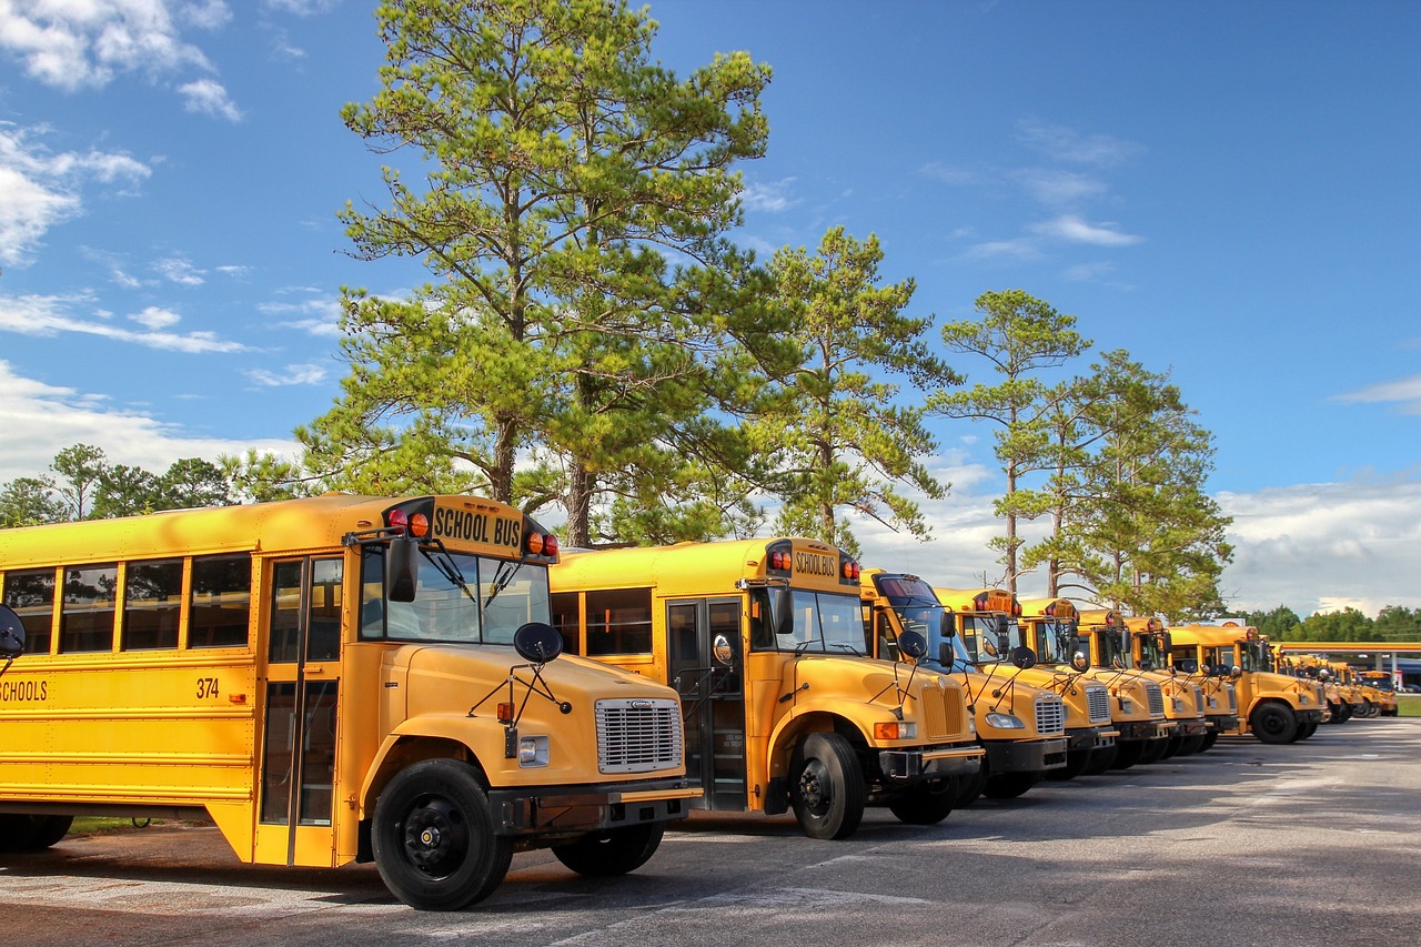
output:
M666 603L671 685L686 717L686 776L709 809L743 810L745 656L740 599ZM720 648L720 660L716 657ZM729 651L726 653L726 648ZM723 658L729 657L729 663Z

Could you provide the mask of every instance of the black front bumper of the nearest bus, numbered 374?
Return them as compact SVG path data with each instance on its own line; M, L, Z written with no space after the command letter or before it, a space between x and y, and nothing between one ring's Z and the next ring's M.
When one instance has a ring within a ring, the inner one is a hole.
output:
M493 833L560 835L684 819L701 798L684 778L601 786L493 789Z

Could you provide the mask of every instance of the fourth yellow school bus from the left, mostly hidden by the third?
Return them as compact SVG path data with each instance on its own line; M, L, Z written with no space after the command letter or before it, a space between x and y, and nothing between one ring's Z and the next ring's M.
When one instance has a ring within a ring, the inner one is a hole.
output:
M1120 731L1110 721L1110 694L1104 684L1081 680L1081 671L1069 667L1054 653L1054 638L1037 651L1023 623L1025 611L1052 607L1050 601L1022 601L1006 589L934 589L938 601L958 616L958 634L973 663L983 670L1006 673L1010 680L1054 692L1066 707L1066 765L1050 769L1047 779L1074 779L1087 769L1104 772L1115 758ZM1063 609L1070 603L1063 601ZM1074 616L1074 611L1070 613ZM1019 648L1030 651L1032 664L1012 667L1009 658Z

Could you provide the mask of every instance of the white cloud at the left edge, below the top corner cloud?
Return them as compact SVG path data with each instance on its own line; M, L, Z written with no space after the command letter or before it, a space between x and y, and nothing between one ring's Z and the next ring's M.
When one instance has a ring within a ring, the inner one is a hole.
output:
M0 122L0 263L24 263L51 228L78 216L85 182L134 183L152 173L122 152L51 154L36 141L47 131Z

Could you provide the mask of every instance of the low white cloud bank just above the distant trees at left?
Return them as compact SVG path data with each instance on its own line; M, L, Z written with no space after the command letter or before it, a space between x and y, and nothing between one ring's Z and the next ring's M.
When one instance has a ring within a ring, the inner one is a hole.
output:
M166 471L185 456L216 461L222 454L243 454L247 448L287 456L297 454L297 445L288 439L244 442L190 437L146 414L118 411L102 397L17 375L3 360L0 429L6 432L0 482L44 474L55 454L75 444L101 448L114 464L155 472Z

